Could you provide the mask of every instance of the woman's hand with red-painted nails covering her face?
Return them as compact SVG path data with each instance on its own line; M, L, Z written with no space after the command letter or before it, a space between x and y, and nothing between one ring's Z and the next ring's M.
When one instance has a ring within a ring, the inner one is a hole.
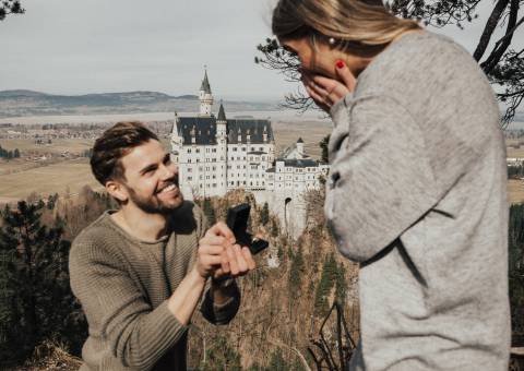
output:
M302 83L309 96L327 113L338 100L355 89L357 80L343 61L336 62L337 80L319 74L302 73Z

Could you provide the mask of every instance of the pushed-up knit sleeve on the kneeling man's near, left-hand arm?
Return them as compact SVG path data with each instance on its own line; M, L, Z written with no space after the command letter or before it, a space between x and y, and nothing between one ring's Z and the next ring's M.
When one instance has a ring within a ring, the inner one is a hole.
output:
M168 311L167 300L152 308L123 262L116 249L73 243L71 288L85 312L91 335L105 339L123 366L151 370L187 326Z

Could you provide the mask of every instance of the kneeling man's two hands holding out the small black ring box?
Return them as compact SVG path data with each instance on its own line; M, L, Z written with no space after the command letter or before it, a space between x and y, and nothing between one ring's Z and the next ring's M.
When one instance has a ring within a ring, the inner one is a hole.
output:
M255 263L248 248L235 243L235 235L226 224L218 222L200 240L195 268L203 278L230 275L242 276L254 270Z

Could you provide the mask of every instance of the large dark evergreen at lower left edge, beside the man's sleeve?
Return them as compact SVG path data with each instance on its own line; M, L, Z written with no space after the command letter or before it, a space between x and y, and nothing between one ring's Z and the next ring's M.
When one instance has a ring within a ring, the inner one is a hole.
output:
M69 241L60 227L40 224L41 204L20 201L5 207L0 228L0 359L20 360L46 338L70 345L78 354L86 325L69 287Z

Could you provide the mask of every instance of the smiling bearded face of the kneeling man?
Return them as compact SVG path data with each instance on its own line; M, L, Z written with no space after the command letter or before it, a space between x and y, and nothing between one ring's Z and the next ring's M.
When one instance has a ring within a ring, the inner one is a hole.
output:
M178 187L178 166L158 141L147 141L121 158L129 202L151 214L168 214L183 198Z

